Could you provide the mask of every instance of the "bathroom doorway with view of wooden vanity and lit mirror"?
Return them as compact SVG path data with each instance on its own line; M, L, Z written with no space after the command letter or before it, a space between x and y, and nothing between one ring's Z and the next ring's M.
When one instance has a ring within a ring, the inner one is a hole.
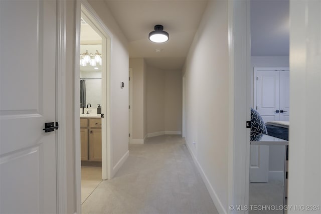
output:
M77 13L75 160L77 207L110 176L110 37L86 2ZM79 56L79 58L78 58ZM80 203L81 202L81 203Z

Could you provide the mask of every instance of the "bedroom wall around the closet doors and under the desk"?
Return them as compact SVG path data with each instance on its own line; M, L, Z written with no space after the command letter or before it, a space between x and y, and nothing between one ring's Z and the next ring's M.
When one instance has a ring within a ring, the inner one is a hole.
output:
M254 85L254 68L255 67L289 67L289 57L251 57L251 106L253 107L253 85ZM282 179L284 162L284 147L269 146L269 179Z

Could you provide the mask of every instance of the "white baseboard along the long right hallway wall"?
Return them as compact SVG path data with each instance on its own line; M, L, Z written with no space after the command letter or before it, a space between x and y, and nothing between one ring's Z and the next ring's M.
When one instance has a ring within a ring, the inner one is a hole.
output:
M186 144L186 147L188 148L188 150L189 150L189 152L190 152L190 154L191 154L191 156L192 156L192 158L194 160L194 163L195 163L197 169L199 170L199 172L200 172L200 174L202 176L202 179L203 179L203 181L204 181L204 183L206 185L207 190L209 191L209 193L211 195L211 198L212 198L212 200L214 202L214 205L215 205L217 211L219 213L227 213L225 208L224 208L224 206L222 205L219 197L217 196L213 186L211 185L209 179L207 178L203 168L201 167L199 161L196 159L195 155L193 154L192 149L190 148L189 144L187 142L185 144Z

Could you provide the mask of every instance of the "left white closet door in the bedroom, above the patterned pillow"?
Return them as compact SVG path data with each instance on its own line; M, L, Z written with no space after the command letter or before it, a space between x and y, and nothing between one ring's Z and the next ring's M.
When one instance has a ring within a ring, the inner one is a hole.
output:
M280 72L257 71L255 83L256 106L254 108L264 122L279 120L277 111L280 109Z

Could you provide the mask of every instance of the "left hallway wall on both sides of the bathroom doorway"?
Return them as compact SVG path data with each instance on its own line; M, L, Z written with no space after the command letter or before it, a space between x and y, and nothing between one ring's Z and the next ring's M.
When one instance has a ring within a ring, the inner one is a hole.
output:
M111 61L111 143L112 165L115 164L128 151L128 50L127 41L111 16L109 9L103 1L88 1L98 16L109 28L112 37ZM67 147L67 212L76 212L75 195L75 162L74 162L74 103L73 97L78 96L74 90L74 59L75 56L75 11L74 0L67 1L67 41L66 41L66 147ZM120 89L120 82L125 88ZM79 106L79 105L78 105ZM115 171L113 171L115 173Z

